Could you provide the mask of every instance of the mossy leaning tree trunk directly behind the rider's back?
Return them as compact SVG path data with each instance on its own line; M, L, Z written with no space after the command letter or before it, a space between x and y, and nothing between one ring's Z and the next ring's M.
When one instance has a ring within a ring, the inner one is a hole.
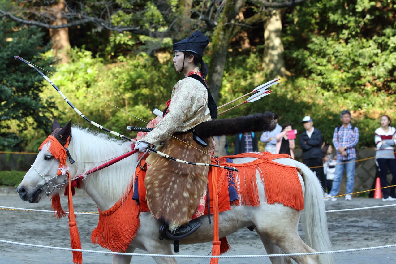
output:
M228 0L221 15L221 22L213 32L211 46L212 55L209 65L208 84L213 99L217 103L221 81L223 79L224 66L227 61L228 46L234 36L234 27L243 0Z

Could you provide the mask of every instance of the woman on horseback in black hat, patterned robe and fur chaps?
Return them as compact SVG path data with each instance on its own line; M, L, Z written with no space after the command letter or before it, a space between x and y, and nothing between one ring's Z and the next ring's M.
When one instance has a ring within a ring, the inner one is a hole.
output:
M208 67L202 59L208 44L209 39L200 31L173 44L175 69L185 78L173 86L163 119L136 142L134 149L143 151L148 146L156 146L181 159L211 162L209 152L213 140L200 139L193 131L201 122L217 117L217 106L206 84ZM191 218L206 192L209 167L177 163L155 153L151 153L146 162L146 199L150 211L165 227L169 225L173 236L181 238L192 233L200 226L197 218Z

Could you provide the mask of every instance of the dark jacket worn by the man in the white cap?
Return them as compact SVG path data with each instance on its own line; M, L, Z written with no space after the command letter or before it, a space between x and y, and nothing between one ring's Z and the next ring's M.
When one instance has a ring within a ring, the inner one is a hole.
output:
M300 136L300 147L303 151L303 159L317 159L322 158L322 132L314 128L314 132L311 138L308 138L307 130L305 130Z

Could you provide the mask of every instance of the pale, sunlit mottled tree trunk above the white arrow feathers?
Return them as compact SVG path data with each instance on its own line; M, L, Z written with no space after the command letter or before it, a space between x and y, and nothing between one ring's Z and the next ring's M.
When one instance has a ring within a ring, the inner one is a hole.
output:
M264 23L264 61L263 69L270 78L286 77L290 73L285 68L282 44L282 21L280 10L271 11Z

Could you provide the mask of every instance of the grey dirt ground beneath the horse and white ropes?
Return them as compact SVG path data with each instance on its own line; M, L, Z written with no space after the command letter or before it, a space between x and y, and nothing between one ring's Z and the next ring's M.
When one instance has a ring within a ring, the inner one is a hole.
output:
M97 212L93 201L78 190L73 198L75 212ZM326 201L326 210L390 205L395 202L383 202L380 199L352 198L352 201L338 199ZM62 198L62 205L67 209L67 201ZM17 207L25 209L51 210L48 200L30 204L19 199L15 189L0 188L0 207ZM385 207L346 212L327 212L328 228L334 250L360 249L396 244L396 207ZM106 251L90 242L90 233L95 228L98 216L77 215L82 249ZM70 248L68 219L57 220L52 213L28 212L21 210L0 209L0 240ZM232 250L226 255L266 254L257 234L247 228L227 237ZM208 255L211 243L181 245L180 255ZM136 250L135 253L146 253ZM85 264L111 263L110 254L83 253ZM209 263L206 258L177 258L179 263ZM396 247L372 249L335 254L336 263L396 263ZM24 245L0 242L0 262L3 264L19 263L72 263L72 253L57 249L44 249ZM225 258L220 263L270 263L268 258ZM152 264L152 258L133 256L131 263Z

